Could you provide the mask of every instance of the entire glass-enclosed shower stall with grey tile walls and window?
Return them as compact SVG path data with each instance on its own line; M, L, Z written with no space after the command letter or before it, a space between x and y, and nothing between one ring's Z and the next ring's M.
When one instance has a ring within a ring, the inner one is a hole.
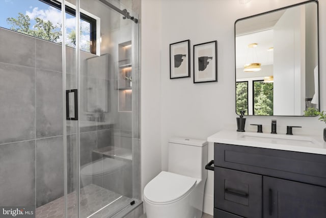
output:
M0 208L132 217L142 204L138 2L0 0Z

